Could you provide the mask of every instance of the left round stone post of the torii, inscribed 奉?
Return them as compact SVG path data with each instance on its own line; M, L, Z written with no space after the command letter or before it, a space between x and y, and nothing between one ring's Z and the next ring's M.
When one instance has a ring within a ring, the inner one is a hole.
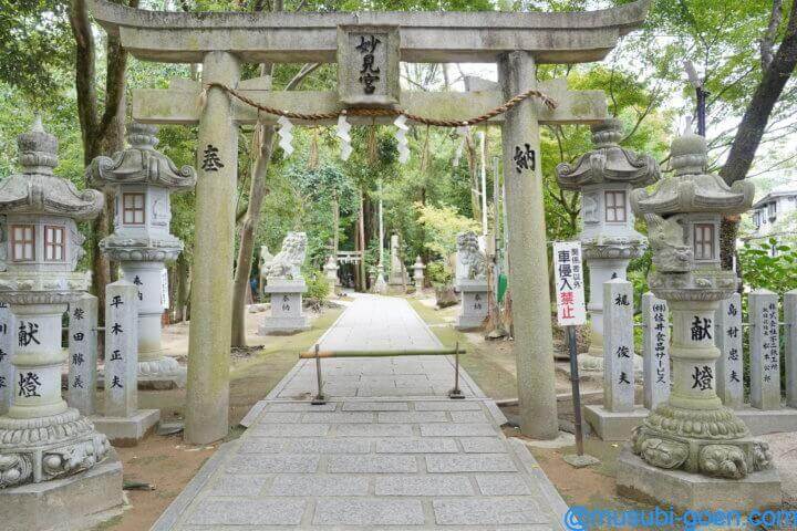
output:
M203 83L236 86L238 60L210 52ZM196 242L186 389L185 438L205 444L227 435L232 303L232 247L238 167L238 132L230 97L209 88L199 121Z

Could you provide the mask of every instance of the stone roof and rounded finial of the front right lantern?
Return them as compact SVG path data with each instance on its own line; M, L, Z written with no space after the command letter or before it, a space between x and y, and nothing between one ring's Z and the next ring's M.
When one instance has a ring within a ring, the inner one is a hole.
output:
M690 212L741 214L753 205L755 186L738 180L727 186L716 174L706 174L708 163L704 137L686 133L672 143L673 175L652 192L634 190L631 206L636 214L667 216Z

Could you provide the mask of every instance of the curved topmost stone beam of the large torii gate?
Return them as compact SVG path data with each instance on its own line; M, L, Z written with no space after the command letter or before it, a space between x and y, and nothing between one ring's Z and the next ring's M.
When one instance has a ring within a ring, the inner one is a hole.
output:
M642 25L652 0L584 12L162 12L89 0L94 19L143 60L198 63L210 51L245 62L334 62L339 25L401 28L401 60L495 62L527 51L538 63L600 61Z

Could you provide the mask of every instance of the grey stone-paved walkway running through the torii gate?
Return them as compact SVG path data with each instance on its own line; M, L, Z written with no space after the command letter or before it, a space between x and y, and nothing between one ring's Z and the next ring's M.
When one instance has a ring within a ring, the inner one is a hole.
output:
M420 348L437 339L401 299L359 296L323 348ZM154 530L562 529L567 506L506 421L463 374L444 397L442 356L300 362L203 467Z

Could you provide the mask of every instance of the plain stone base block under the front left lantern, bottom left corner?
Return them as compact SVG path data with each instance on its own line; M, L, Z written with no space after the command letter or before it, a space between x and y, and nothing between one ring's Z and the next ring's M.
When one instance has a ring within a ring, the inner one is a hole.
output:
M85 472L0 489L0 521L8 531L93 529L123 504L122 462L111 449Z

